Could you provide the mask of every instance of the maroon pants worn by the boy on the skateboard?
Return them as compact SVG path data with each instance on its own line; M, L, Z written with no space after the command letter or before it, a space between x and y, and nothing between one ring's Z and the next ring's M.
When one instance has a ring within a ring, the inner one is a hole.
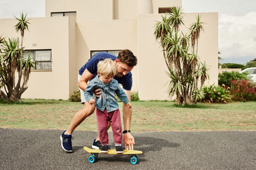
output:
M122 125L120 118L120 111L115 110L111 112L107 112L105 109L101 111L99 109L96 110L97 115L97 127L100 136L100 143L102 145L108 145L108 122L110 122L113 138L116 145L122 144Z

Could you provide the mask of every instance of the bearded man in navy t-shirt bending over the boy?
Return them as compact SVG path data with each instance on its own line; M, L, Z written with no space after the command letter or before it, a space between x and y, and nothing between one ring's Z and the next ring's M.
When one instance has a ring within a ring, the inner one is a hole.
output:
M118 53L118 57L111 55L107 52L99 52L84 64L79 70L79 81L78 87L81 92L81 103L84 104L82 110L79 110L74 118L72 119L67 131L64 131L61 136L61 146L66 152L72 152L72 132L76 127L81 124L86 117L92 115L95 110L95 106L89 104L84 99L84 90L88 86L88 81L92 80L97 75L97 64L100 60L112 59L116 66L116 76L114 77L118 83L122 84L123 89L129 101L131 101L131 88L132 88L132 73L131 70L137 64L137 58L133 55L130 50L122 50ZM100 97L100 89L95 89L94 94ZM131 117L132 110L126 104L123 104L123 120L124 120L124 143L125 149L133 150L134 138L131 135ZM108 125L108 127L110 124ZM102 145L99 141L99 134L93 141L92 148L99 149Z

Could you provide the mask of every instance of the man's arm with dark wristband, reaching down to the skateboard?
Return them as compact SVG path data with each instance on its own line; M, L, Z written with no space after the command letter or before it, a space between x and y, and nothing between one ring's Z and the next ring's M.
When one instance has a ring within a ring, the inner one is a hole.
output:
M124 90L129 101L131 101L131 90ZM131 118L132 118L132 108L129 108L127 104L123 103L123 121L124 121L124 131L131 130ZM124 134L124 143L126 150L133 150L133 145L135 144L134 138L131 132Z

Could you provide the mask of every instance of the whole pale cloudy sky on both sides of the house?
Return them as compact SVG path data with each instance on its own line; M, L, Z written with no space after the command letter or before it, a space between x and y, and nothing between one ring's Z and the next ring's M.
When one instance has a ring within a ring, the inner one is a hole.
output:
M246 64L256 58L256 0L182 0L184 12L218 12L221 63ZM0 0L0 18L20 12L45 17L44 0Z

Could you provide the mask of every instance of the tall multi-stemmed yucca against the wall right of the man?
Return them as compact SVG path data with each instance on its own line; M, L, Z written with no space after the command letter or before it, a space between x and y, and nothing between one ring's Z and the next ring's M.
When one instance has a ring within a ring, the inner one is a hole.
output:
M180 26L184 25L182 9L172 7L170 11L168 17L162 16L162 21L157 21L154 31L156 40L160 41L163 48L164 60L168 67L168 95L175 95L177 104L196 103L204 94L202 85L208 78L205 63L200 64L197 50L194 52L204 23L200 22L198 15L196 22L189 29L189 34L184 33L179 30Z

